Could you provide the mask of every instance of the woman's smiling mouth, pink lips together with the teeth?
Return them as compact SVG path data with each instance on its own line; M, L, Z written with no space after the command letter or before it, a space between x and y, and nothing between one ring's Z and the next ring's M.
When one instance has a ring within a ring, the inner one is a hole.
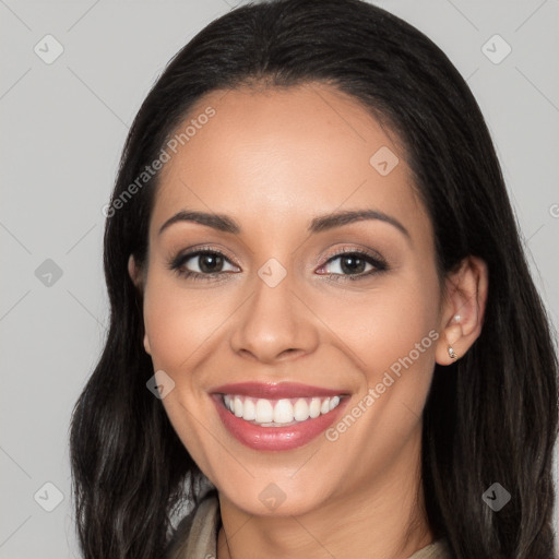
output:
M239 442L255 450L292 450L328 429L348 400L305 384L239 383L212 391L222 423Z

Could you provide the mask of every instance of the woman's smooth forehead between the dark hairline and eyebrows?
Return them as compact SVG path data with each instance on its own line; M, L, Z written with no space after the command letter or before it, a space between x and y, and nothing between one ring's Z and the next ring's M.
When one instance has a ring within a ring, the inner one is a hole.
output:
M282 234L312 215L371 207L429 229L399 139L330 86L214 91L181 132L162 171L153 228L194 209L235 216L248 233Z

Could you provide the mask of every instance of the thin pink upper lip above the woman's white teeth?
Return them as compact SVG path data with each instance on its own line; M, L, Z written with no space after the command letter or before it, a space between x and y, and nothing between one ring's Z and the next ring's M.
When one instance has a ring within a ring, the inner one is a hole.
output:
M215 386L210 392L214 394L233 394L265 400L281 400L289 397L340 396L346 395L343 390L332 390L322 386L312 386L299 382L238 382Z

